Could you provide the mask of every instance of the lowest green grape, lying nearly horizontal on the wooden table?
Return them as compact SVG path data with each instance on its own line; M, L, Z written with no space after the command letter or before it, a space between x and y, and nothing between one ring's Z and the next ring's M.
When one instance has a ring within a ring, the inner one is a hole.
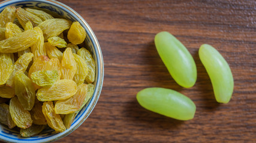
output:
M195 114L192 100L166 88L146 88L137 94L138 103L147 110L177 120L191 120Z

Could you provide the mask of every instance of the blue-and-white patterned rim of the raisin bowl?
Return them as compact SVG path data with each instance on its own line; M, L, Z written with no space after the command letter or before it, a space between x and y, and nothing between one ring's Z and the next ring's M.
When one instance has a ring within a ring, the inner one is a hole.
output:
M92 99L89 102L86 110L82 113L83 115L80 116L80 119L76 120L76 121L79 121L79 120L80 121L78 123L76 123L76 125L73 126L72 129L70 128L68 130L68 132L65 132L62 134L57 133L57 134L55 134L56 136L55 135L49 136L49 137L47 137L47 140L44 140L44 141L40 141L40 138L38 138L38 140L37 140L38 142L53 142L58 139L64 138L65 136L69 135L71 132L76 130L80 125L82 125L82 123L85 122L85 120L87 119L89 114L91 114L92 110L94 109L95 105L97 104L98 98L100 98L101 89L103 86L103 79L104 79L103 54L101 52L100 44L98 43L98 40L97 40L94 32L92 31L91 27L89 26L89 24L83 19L83 17L81 15L79 15L72 8L68 7L65 4L62 4L61 2L55 1L55 0L5 0L5 1L0 2L0 7L6 7L7 5L15 4L17 2L44 2L44 3L50 4L50 5L55 5L56 7L61 8L61 10L64 10L67 13L73 15L74 17L79 18L76 20L82 22L82 25L85 26L86 33L89 33L89 35L91 35L91 36L89 36L89 38L91 39L92 44L94 45L95 54L96 54L95 58L97 58L97 67L98 67L98 80L97 80L97 83L95 86L94 95L92 96ZM4 4L6 4L6 5L4 5ZM7 139L3 139L0 134L0 141L13 142L13 140L8 141L8 136L5 136L5 138L7 138ZM19 139L19 140L17 140L17 142L26 141L26 139L27 138Z

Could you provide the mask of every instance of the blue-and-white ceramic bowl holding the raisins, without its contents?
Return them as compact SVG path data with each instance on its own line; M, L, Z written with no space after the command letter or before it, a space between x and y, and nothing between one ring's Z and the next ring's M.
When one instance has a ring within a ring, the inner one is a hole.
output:
M8 6L35 8L38 10L46 11L49 14L67 18L71 21L79 21L86 30L85 45L87 46L87 49L92 52L92 57L94 57L96 64L96 76L94 82L95 91L94 95L92 95L92 98L88 101L85 107L83 107L79 114L77 114L76 119L74 119L74 122L72 123L70 129L67 129L61 133L56 133L53 129L43 130L43 132L41 132L37 136L23 138L22 136L20 136L19 131L9 129L7 126L2 124L0 125L0 140L4 142L32 143L56 141L63 138L64 136L67 136L75 129L77 129L80 125L82 125L82 123L85 122L89 114L94 109L98 98L100 97L104 77L104 63L100 44L98 43L94 32L92 32L91 27L88 23L86 23L83 17L76 13L76 11L72 10L72 8L68 7L65 4L62 4L61 2L53 0L7 0L0 2L0 11L4 10L4 8Z

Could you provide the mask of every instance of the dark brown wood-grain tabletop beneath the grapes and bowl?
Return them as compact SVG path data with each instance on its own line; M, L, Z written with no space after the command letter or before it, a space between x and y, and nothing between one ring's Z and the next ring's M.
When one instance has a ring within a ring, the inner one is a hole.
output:
M61 1L89 23L101 45L104 85L88 119L56 142L256 142L256 1ZM153 42L168 31L191 52L197 82L177 85ZM209 43L230 65L234 92L215 101L198 57ZM152 113L135 96L148 87L170 88L191 98L195 117L183 122Z

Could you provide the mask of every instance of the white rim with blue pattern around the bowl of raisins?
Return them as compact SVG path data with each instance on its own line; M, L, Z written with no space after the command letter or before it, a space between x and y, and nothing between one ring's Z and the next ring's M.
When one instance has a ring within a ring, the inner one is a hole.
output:
M62 2L58 2L58 1L55 1L55 0L5 0L5 1L0 2L0 7L1 7L2 4L5 4L6 2L12 2L11 4L15 4L16 2L29 2L29 1L46 2L47 4L55 3L56 5L58 5L58 7L64 7L64 9L66 9L66 11L68 11L68 13L74 14L75 17L79 18L79 21L82 22L83 25L85 25L86 29L88 30L88 31L86 30L86 32L91 34L90 38L91 38L92 41L94 41L94 42L92 42L92 44L94 45L95 52L98 53L98 57L95 57L95 58L98 59L98 80L97 80L97 83L95 85L94 95L92 95L92 99L91 99L91 101L89 102L89 105L88 105L89 108L87 107L88 108L87 113L84 114L83 117L81 117L82 119L80 119L80 121L76 124L76 126L74 126L72 129L70 129L68 132L65 132L62 135L56 136L56 138L50 139L50 137L49 137L49 140L42 141L42 142L53 142L53 141L56 141L58 139L64 138L65 136L69 135L74 130L76 130L89 117L92 110L94 110L94 107L97 104L98 99L100 98L101 90L102 90L102 87L103 87L103 79L104 79L103 54L101 52L100 43L98 42L98 40L97 40L94 32L92 31L91 27L89 26L89 24L85 21L85 19L83 19L83 17L80 14L78 14L76 11L74 11L72 8L68 7L67 5L63 4ZM7 4L7 5L10 5L10 4ZM6 7L6 5L4 5L3 7ZM61 9L63 9L63 8L61 8ZM13 142L13 141L8 141L8 140L2 139L2 138L0 138L0 141ZM24 140L24 141L26 141L26 140Z

